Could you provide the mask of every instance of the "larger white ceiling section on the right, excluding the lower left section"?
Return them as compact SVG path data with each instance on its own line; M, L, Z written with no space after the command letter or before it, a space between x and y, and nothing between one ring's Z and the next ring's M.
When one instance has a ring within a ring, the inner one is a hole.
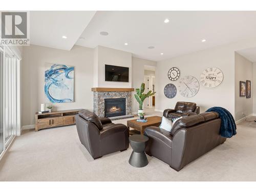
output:
M76 45L101 45L159 61L254 37L255 20L256 11L97 11Z

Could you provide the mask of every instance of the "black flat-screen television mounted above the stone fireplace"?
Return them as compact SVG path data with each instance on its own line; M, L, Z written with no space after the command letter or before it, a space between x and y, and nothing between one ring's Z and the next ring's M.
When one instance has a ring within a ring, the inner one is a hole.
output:
M105 81L129 82L129 68L105 65Z

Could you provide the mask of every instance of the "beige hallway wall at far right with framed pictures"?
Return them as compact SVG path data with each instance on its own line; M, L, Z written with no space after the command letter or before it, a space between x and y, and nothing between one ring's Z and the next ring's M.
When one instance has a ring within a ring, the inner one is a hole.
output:
M239 120L244 117L243 113L248 116L252 114L253 92L251 98L240 97L240 81L250 80L251 88L253 88L253 65L252 62L238 54L234 53L235 64L235 115L234 119ZM253 91L253 89L251 89Z

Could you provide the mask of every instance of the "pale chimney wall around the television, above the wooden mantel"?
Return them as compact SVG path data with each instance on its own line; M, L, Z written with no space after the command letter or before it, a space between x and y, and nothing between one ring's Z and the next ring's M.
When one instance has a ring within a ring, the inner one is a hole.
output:
M94 59L94 87L132 88L132 53L98 46ZM129 82L105 81L105 65L128 67Z

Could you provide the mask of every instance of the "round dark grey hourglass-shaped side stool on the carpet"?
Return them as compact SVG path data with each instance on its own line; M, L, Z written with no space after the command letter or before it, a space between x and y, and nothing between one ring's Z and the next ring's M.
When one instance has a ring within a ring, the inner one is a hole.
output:
M146 154L144 152L148 137L144 135L132 135L129 137L133 153L129 159L130 165L134 167L144 167L148 164Z

